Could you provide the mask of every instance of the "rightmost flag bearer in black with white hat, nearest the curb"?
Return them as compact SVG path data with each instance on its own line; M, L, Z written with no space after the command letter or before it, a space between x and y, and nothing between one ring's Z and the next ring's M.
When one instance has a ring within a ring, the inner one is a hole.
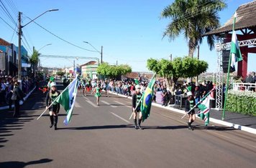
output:
M188 129L193 130L191 124L196 120L195 110L192 109L196 104L192 92L187 92L188 99L185 102L185 112L188 113ZM191 110L192 109L192 110ZM191 111L190 111L191 110Z

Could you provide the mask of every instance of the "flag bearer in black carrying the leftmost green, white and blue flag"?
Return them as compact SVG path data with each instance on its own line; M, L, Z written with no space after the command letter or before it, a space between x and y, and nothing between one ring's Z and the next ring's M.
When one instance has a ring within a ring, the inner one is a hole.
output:
M47 92L46 95L46 109L54 100L60 95L60 92L58 92L55 82L52 82L50 84L50 92ZM51 107L49 107L49 114L50 114L50 128L54 124L54 129L57 129L57 123L58 123L58 113L60 111L60 104L58 102L54 102Z

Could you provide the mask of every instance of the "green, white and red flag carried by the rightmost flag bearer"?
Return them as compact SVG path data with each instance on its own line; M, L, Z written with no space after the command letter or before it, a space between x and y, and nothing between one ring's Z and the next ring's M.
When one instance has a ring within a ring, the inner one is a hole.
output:
M213 93L214 89L209 92L198 104L198 117L204 120L204 124L207 126L209 124L210 118L210 100L214 99Z

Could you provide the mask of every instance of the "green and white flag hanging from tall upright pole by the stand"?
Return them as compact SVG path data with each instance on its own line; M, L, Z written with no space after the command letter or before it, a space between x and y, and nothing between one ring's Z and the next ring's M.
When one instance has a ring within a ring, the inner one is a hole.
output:
M242 61L242 54L239 49L239 44L237 41L237 34L236 34L236 31L234 31L236 19L237 19L237 12L234 14L232 41L231 41L231 47L230 47L230 54L231 54L230 72L235 71L234 64L237 61Z

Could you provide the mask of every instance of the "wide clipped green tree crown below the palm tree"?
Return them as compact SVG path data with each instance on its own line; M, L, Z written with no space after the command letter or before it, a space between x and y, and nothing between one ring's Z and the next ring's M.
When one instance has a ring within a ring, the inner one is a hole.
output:
M183 58L177 57L173 61L148 59L147 68L164 77L169 83L172 80L175 84L179 78L191 78L205 72L208 69L208 64L206 61L186 56Z

